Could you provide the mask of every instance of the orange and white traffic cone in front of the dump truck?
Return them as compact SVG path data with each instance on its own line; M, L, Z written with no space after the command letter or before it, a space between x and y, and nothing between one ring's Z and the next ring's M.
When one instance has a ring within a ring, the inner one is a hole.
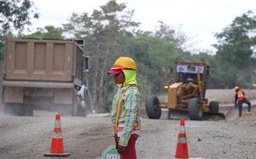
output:
M53 135L51 140L50 153L44 154L46 157L66 157L70 156L69 153L64 153L63 139L62 139L62 127L60 125L60 115L56 114L55 125L53 129Z

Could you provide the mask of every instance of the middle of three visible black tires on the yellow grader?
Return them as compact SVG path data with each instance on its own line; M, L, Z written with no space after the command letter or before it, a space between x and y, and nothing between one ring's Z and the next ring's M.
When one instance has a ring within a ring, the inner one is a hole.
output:
M203 120L204 112L199 98L189 100L187 114L190 120Z

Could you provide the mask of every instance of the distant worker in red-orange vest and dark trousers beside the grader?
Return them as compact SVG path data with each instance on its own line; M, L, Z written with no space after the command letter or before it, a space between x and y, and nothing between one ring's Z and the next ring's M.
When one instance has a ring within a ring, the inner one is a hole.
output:
M240 90L238 86L235 86L235 105L239 109L239 117L242 117L242 104L246 103L248 105L247 114L251 114L251 103L245 98L245 92Z

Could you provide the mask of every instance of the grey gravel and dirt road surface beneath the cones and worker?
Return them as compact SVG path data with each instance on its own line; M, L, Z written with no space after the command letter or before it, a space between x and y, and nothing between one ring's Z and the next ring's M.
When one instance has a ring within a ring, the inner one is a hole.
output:
M166 118L166 111L159 120L148 119L143 114L142 131L136 144L138 158L174 157L179 120ZM189 156L255 158L255 119L253 106L252 114L243 110L242 119L235 121L186 120ZM0 158L47 158L43 154L50 152L54 124L55 115L49 112L34 111L33 117L0 115ZM109 114L61 117L61 124L65 152L71 154L66 158L101 158L103 150L114 144Z

